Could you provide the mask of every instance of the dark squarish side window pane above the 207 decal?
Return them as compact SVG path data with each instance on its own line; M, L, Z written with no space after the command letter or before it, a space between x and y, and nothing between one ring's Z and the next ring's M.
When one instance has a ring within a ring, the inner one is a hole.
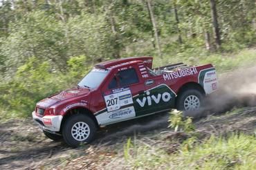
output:
M138 83L138 75L134 68L130 68L127 70L121 70L118 73L120 86L127 86L129 84Z

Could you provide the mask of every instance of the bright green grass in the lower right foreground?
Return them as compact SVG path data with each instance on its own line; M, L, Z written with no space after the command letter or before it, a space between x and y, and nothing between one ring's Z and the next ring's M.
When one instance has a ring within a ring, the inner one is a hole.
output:
M256 169L254 136L231 134L226 138L217 138L212 135L210 139L192 144L194 146L189 148L188 140L176 153L168 153L167 148L135 142L129 148L131 155L126 156L125 164L131 169Z

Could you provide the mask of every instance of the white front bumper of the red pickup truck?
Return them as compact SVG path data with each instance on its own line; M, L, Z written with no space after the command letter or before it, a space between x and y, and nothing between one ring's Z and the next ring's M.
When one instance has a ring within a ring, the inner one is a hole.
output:
M33 120L37 122L39 127L44 131L60 131L60 124L62 123L62 115L46 115L44 117L39 117L35 114L35 111L32 113Z

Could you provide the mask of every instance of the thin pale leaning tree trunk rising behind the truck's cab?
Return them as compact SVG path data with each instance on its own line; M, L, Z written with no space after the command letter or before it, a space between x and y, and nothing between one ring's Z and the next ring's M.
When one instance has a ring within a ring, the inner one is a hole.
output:
M150 3L150 0L147 0L147 10L149 11L150 20L152 22L152 26L153 26L153 30L154 30L154 37L155 37L155 41L156 41L156 48L158 50L158 55L162 58L160 41L159 41L158 31L157 31L157 27L156 27L156 20L154 18L154 13L152 11L152 6Z

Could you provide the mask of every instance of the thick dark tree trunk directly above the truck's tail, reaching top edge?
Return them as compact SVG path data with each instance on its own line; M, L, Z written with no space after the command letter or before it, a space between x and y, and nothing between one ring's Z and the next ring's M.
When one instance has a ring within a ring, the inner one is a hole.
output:
M212 14L212 23L213 23L213 30L214 30L214 39L217 48L221 46L221 35L219 32L219 23L218 23L218 16L217 16L217 8L215 0L210 0L210 9Z

